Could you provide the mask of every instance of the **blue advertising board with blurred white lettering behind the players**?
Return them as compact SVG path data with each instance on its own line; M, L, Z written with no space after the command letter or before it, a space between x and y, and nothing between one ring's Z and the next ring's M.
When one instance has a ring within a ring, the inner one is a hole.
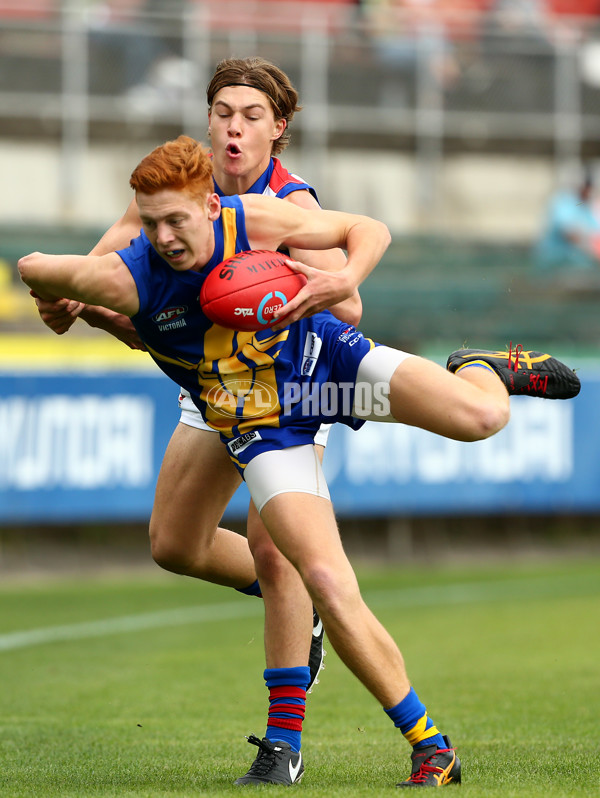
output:
M600 510L600 371L572 401L512 400L498 435L337 425L325 457L340 517ZM0 523L145 521L178 420L160 372L0 374ZM246 513L245 486L229 517Z

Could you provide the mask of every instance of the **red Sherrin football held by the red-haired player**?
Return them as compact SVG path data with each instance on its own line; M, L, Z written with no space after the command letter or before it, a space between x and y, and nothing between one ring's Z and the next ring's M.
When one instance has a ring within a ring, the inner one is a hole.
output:
M306 284L286 265L286 255L266 249L239 252L216 266L200 291L200 306L211 321L231 330L272 327L273 314Z

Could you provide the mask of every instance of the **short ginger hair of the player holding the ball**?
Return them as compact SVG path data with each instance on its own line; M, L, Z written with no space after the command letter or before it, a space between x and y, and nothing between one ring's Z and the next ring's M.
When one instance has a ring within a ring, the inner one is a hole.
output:
M179 136L146 155L131 173L129 185L141 194L173 189L204 202L214 191L209 151L196 139Z

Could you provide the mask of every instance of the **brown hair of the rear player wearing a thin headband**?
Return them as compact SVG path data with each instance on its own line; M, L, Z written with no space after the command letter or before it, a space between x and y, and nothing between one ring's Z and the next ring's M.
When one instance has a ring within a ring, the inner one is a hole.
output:
M251 86L264 92L269 98L275 119L285 119L282 135L273 142L273 155L277 155L290 143L289 124L298 105L298 92L285 72L264 58L225 58L217 64L215 74L206 89L208 109L212 110L215 94L225 86Z

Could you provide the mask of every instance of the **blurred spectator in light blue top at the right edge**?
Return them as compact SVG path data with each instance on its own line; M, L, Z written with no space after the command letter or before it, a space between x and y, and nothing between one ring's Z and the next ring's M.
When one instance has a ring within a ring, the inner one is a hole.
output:
M551 197L536 261L546 270L592 270L600 266L600 206L590 172L577 188Z

